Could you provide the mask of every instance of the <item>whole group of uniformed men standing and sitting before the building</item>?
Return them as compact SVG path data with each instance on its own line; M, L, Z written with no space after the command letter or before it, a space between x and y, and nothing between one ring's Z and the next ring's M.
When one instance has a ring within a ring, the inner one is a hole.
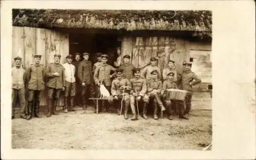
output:
M121 115L124 102L124 119L128 119L127 111L132 110L131 120L137 120L139 116L139 104L143 103L141 116L147 119L147 108L151 104L154 108L154 119L158 119L159 109L161 113L166 110L168 119L173 120L173 105L179 108L179 118L188 119L191 108L192 86L201 82L200 78L191 72L191 62L183 62L184 70L178 74L175 69L175 61L169 60L168 67L160 72L157 66L157 58L150 59L150 65L144 68L136 68L130 63L131 57L124 55L123 64L113 67L108 64L109 56L97 53L97 62L92 64L89 53L83 53L66 57L66 63L60 64L60 55L54 55L54 62L46 68L40 64L41 55L34 55L34 62L27 71L22 68L22 58L15 57L15 66L12 68L12 119L14 118L14 106L17 97L20 102L20 117L30 120L33 116L40 118L39 103L42 90L48 87L48 113L58 115L57 102L61 90L64 92L63 112L74 111L74 99L82 100L82 108L88 107L89 97L100 97L100 86L103 84L110 92L108 100L103 100L99 105L99 112L105 108L110 112L110 106L114 106L118 115ZM163 81L163 82L162 82ZM28 106L25 106L25 85L28 88ZM184 89L187 91L185 103L171 100L167 95L170 89ZM152 103L151 103L152 102ZM26 113L26 107L28 112Z

